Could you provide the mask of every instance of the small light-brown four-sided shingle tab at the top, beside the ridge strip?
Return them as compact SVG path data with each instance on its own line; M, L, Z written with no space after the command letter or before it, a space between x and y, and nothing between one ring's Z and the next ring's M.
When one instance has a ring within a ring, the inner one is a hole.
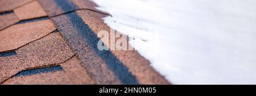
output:
M47 16L47 13L44 11L43 7L38 3L38 1L33 1L18 7L14 10L14 13L18 16L19 20Z

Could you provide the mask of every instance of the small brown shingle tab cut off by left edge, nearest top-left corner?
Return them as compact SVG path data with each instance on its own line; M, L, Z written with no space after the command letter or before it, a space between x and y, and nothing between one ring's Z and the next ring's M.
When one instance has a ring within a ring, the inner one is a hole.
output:
M10 25L18 23L19 19L13 12L10 12L7 14L0 15L0 21L0 30L2 30L9 27Z

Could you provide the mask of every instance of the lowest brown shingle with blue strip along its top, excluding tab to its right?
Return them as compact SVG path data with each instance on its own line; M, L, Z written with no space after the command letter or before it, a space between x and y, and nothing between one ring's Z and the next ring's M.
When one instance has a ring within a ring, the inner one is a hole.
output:
M56 68L59 66L23 71L3 84L73 84L63 69Z

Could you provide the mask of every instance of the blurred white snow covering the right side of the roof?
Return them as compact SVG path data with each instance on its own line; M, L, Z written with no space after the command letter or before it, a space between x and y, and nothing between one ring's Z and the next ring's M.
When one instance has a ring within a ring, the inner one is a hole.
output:
M172 84L256 84L255 0L92 0Z

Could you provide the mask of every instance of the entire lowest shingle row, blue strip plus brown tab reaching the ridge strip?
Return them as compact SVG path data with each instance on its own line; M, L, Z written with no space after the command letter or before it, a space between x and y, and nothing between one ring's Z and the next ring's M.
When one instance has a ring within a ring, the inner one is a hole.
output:
M19 72L3 84L94 84L94 81L74 56L56 66Z

